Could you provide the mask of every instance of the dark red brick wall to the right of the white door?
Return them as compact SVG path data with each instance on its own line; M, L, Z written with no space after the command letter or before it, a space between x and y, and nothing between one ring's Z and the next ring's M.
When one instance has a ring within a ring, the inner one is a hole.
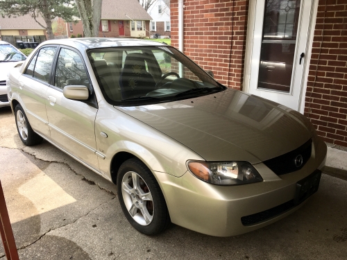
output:
M347 146L346 62L347 1L320 0L305 115L324 141L338 146Z

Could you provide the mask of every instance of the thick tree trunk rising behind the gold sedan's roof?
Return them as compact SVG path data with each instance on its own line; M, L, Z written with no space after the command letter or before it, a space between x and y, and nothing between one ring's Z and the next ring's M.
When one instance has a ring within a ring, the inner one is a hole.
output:
M75 0L83 23L85 37L97 37L101 20L102 0Z

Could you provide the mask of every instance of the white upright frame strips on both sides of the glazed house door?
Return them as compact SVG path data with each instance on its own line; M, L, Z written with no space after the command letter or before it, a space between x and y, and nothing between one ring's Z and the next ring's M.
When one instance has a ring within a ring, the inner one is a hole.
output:
M307 0L302 0L307 1ZM314 29L316 27L316 16L318 10L319 0L311 0L312 9L310 12L310 21L307 35L306 51L303 64L303 77L301 78L301 91L298 102L298 112L303 114L305 110L305 96L307 90L307 78L310 70L312 44L314 38ZM249 93L249 85L251 80L251 60L253 52L253 40L254 40L254 29L255 29L255 7L257 0L249 0L248 4L248 21L247 21L247 34L246 34L246 53L244 58L244 80L243 80L243 91Z

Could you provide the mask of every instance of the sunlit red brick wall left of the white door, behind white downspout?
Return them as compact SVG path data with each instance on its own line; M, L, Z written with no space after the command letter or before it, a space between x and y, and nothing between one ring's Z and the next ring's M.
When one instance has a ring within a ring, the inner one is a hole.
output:
M185 0L184 6L183 52L219 83L242 89L248 1ZM171 45L178 48L178 0L170 7Z

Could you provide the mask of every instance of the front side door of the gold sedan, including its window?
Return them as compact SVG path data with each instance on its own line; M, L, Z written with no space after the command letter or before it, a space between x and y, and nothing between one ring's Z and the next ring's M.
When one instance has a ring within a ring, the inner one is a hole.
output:
M85 85L90 89L90 99L74 101L65 98L62 89L67 85ZM95 95L90 78L77 50L61 47L53 81L46 92L46 111L51 139L74 157L99 171L96 152L94 124L96 112Z

